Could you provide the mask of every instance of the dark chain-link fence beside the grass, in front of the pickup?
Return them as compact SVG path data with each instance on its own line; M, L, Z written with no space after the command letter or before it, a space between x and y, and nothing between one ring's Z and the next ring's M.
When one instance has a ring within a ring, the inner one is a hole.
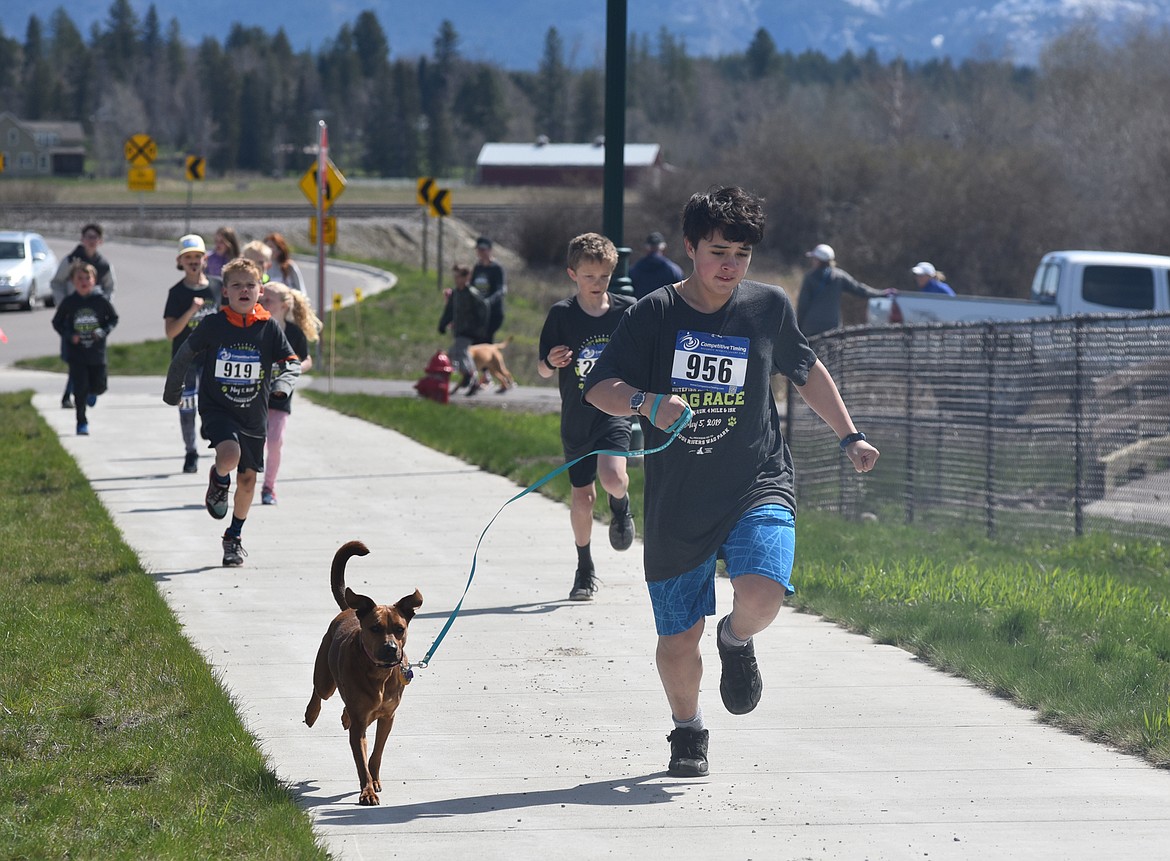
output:
M1170 533L1170 315L863 326L812 345L881 459L856 475L790 386L801 507L1000 537Z

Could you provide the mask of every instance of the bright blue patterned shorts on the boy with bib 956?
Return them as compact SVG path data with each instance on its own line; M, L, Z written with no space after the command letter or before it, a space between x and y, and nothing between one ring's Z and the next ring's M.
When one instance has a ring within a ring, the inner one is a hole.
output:
M797 545L796 516L784 505L760 505L741 517L720 549L697 566L669 580L647 583L659 636L689 631L704 615L715 615L715 560L728 576L762 574L793 593L792 557Z

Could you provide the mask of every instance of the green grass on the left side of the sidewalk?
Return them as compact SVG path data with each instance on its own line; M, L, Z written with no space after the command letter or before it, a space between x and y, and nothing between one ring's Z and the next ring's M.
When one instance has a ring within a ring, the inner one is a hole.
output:
M0 854L325 857L29 395L0 414Z

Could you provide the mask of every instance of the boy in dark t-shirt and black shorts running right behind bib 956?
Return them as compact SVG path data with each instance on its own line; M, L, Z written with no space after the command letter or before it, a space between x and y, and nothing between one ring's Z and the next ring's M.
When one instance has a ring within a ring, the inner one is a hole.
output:
M536 367L549 379L559 373L560 445L565 462L598 449L629 450L629 420L600 412L581 400L585 376L601 356L618 321L633 301L608 292L610 277L618 264L618 250L605 236L584 233L569 243L569 277L576 295L549 309L541 330L541 353ZM592 600L597 592L590 539L593 532L593 482L600 478L610 495L610 544L627 550L634 542L634 518L629 511L629 477L626 459L590 455L569 468L572 501L569 519L577 545L577 573L569 597Z

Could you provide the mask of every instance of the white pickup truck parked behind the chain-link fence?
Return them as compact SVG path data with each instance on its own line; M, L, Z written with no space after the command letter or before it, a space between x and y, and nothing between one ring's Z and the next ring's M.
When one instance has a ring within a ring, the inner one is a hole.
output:
M1049 252L1032 297L902 292L869 299L867 322L954 323L1170 310L1170 257L1128 252Z

